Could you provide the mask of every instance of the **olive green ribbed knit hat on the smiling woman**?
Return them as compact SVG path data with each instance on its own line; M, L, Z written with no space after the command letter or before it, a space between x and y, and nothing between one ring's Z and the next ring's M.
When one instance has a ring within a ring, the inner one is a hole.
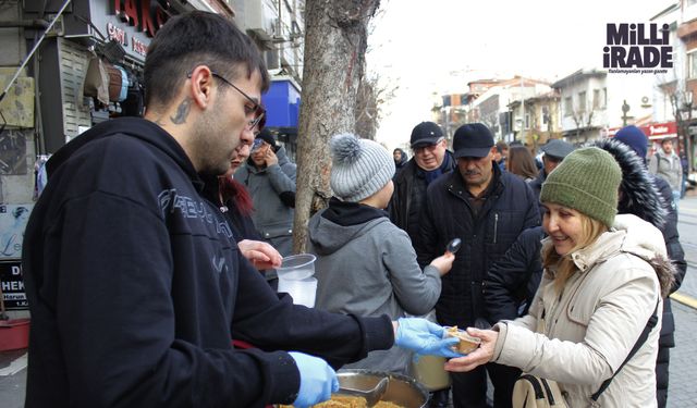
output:
M540 201L572 208L612 226L620 182L622 170L609 152L597 147L578 149L547 176Z

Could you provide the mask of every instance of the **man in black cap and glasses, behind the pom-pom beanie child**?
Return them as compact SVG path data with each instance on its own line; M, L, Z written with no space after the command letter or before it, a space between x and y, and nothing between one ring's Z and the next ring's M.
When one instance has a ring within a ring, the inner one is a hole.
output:
M390 200L390 220L406 231L412 243L418 240L418 217L426 187L436 178L455 169L445 136L433 122L421 122L412 131L412 159L394 177L394 194Z

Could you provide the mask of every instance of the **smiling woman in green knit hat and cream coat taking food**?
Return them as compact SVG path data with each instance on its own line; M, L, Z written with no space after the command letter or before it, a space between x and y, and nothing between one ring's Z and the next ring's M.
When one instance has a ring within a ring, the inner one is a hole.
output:
M549 174L540 200L545 273L527 316L492 330L468 329L481 347L447 362L469 371L494 361L553 380L570 407L656 407L660 332L623 362L661 310L673 273L661 232L631 214L616 215L620 166L604 150L574 151ZM616 217L615 217L616 215Z

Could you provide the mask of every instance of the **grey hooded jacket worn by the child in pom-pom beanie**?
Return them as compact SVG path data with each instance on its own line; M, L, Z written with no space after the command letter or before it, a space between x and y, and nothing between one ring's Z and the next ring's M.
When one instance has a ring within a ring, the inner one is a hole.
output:
M421 272L409 237L387 213L340 225L322 217L328 210L331 208L315 214L308 227L308 251L317 256L316 308L365 317L388 314L392 320L406 313L426 314L433 308L441 289L440 274L431 265ZM392 347L371 351L346 367L405 373L409 355Z

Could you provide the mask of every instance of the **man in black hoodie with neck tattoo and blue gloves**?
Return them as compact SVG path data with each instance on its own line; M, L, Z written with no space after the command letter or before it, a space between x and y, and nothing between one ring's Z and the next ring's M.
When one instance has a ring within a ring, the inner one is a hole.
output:
M145 120L105 122L49 160L23 254L27 408L305 407L372 349L449 355L423 319L294 306L240 254L201 176L228 170L268 83L233 23L174 17L148 49Z

